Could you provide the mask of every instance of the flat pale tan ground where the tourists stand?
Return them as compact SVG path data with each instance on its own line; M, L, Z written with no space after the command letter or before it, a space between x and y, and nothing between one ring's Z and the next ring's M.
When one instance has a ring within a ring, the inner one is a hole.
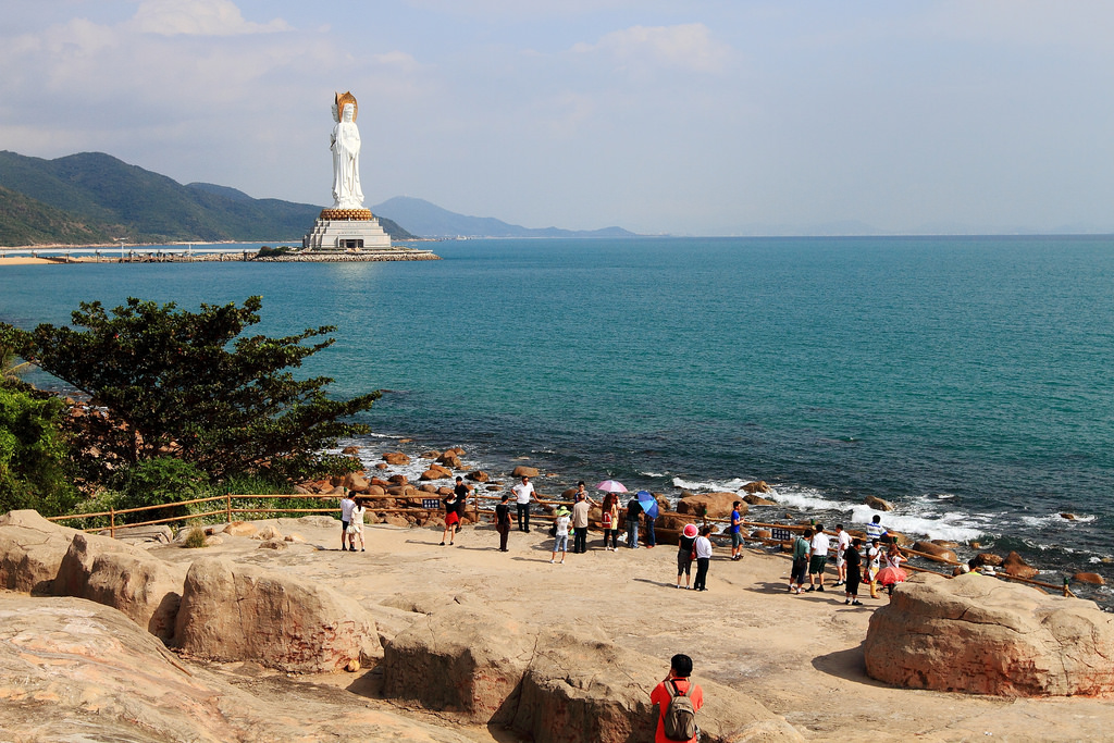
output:
M283 534L297 532L319 549L276 553L258 549L256 540L225 537L223 545L204 550L166 546L152 553L179 563L223 554L319 580L368 606L408 596L427 606L459 603L521 622L602 632L659 658L661 667L653 671L663 675L673 654L687 653L697 677L754 697L810 740L1076 741L1106 740L1114 729L1114 705L1100 700L986 697L892 688L870 680L860 644L885 594L871 599L864 588L862 607L846 606L840 588L791 595L789 559L759 549L732 563L729 550L717 546L709 590L697 593L674 587L676 547L605 551L596 532L587 554L569 554L565 565L550 565L551 540L537 529L512 530L510 551L501 554L490 525L465 527L456 546L444 547L438 544L440 529L373 525L365 527L368 551L345 553L340 551L339 522L333 529L286 519L267 524ZM506 731L459 724L451 714L379 701L377 677L372 669L291 683L348 690L360 695L360 703L402 710L476 741L519 740Z

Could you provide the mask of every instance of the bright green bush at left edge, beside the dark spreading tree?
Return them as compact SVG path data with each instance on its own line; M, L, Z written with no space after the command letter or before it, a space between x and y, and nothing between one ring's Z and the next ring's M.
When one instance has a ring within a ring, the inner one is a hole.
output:
M53 516L74 506L69 449L59 430L63 407L57 398L0 387L0 512L33 508Z

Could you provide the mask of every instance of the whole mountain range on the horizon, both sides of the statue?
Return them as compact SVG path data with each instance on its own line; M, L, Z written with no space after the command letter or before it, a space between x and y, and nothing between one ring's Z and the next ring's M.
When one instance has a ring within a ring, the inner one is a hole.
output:
M372 212L392 239L633 236L619 227L530 229L403 196ZM227 186L182 185L104 153L47 160L0 151L0 246L89 245L121 237L128 243L300 243L320 213L313 204L252 198Z

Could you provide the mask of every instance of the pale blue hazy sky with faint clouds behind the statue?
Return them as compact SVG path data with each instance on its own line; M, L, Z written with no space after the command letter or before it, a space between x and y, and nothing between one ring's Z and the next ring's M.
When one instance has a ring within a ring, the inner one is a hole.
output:
M644 234L1114 232L1108 0L0 0L0 149Z

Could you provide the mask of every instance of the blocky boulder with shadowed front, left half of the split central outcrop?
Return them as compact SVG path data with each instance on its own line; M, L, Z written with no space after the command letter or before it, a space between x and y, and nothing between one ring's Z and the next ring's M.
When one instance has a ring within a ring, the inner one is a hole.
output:
M534 654L537 628L506 616L451 606L418 618L383 648L383 694L458 712L486 724L515 693Z

